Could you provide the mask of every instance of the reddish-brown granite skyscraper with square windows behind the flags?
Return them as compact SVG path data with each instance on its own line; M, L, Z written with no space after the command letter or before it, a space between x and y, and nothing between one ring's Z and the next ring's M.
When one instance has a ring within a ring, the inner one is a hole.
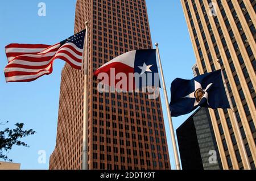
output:
M75 32L88 31L89 169L170 169L160 98L97 91L93 71L119 54L152 48L144 0L78 0ZM61 75L57 141L49 169L81 169L83 73Z

